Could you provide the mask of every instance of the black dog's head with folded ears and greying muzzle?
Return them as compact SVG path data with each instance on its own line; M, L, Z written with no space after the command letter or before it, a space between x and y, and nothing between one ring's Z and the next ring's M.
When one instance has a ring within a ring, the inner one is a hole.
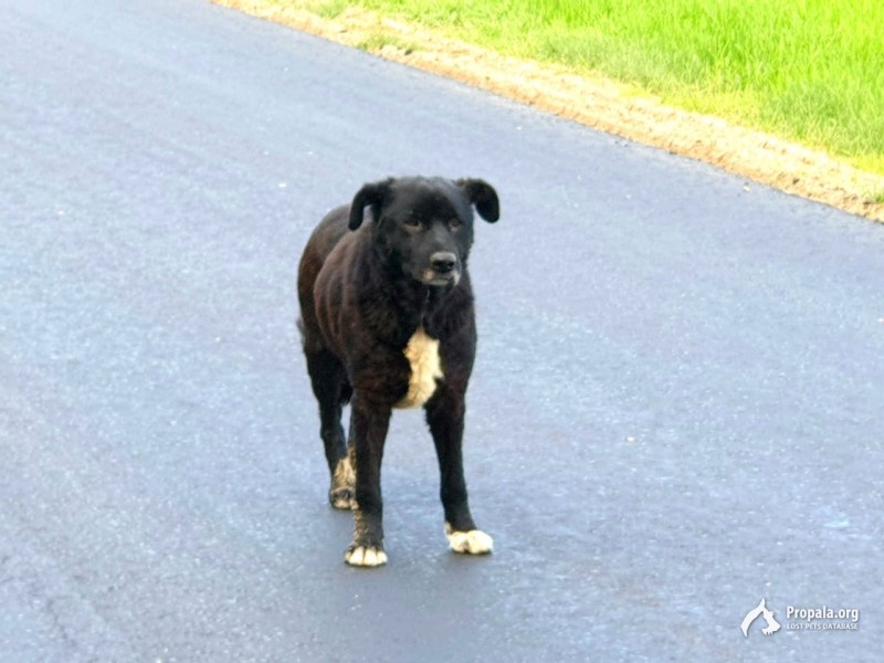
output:
M424 285L457 285L473 244L473 207L486 221L501 214L497 192L480 179L387 179L352 199L349 227L370 208L373 245L385 264Z

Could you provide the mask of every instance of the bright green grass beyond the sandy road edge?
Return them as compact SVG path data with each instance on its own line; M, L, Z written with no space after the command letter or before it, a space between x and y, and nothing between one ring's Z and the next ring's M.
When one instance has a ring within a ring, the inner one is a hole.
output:
M884 173L882 0L314 0L600 73Z

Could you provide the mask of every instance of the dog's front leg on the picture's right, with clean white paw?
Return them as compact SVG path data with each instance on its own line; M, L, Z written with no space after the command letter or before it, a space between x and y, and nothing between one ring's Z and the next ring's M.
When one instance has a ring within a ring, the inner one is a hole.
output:
M455 552L485 555L492 551L494 540L476 528L470 513L463 476L463 392L445 389L427 406L427 423L439 459L445 537Z

